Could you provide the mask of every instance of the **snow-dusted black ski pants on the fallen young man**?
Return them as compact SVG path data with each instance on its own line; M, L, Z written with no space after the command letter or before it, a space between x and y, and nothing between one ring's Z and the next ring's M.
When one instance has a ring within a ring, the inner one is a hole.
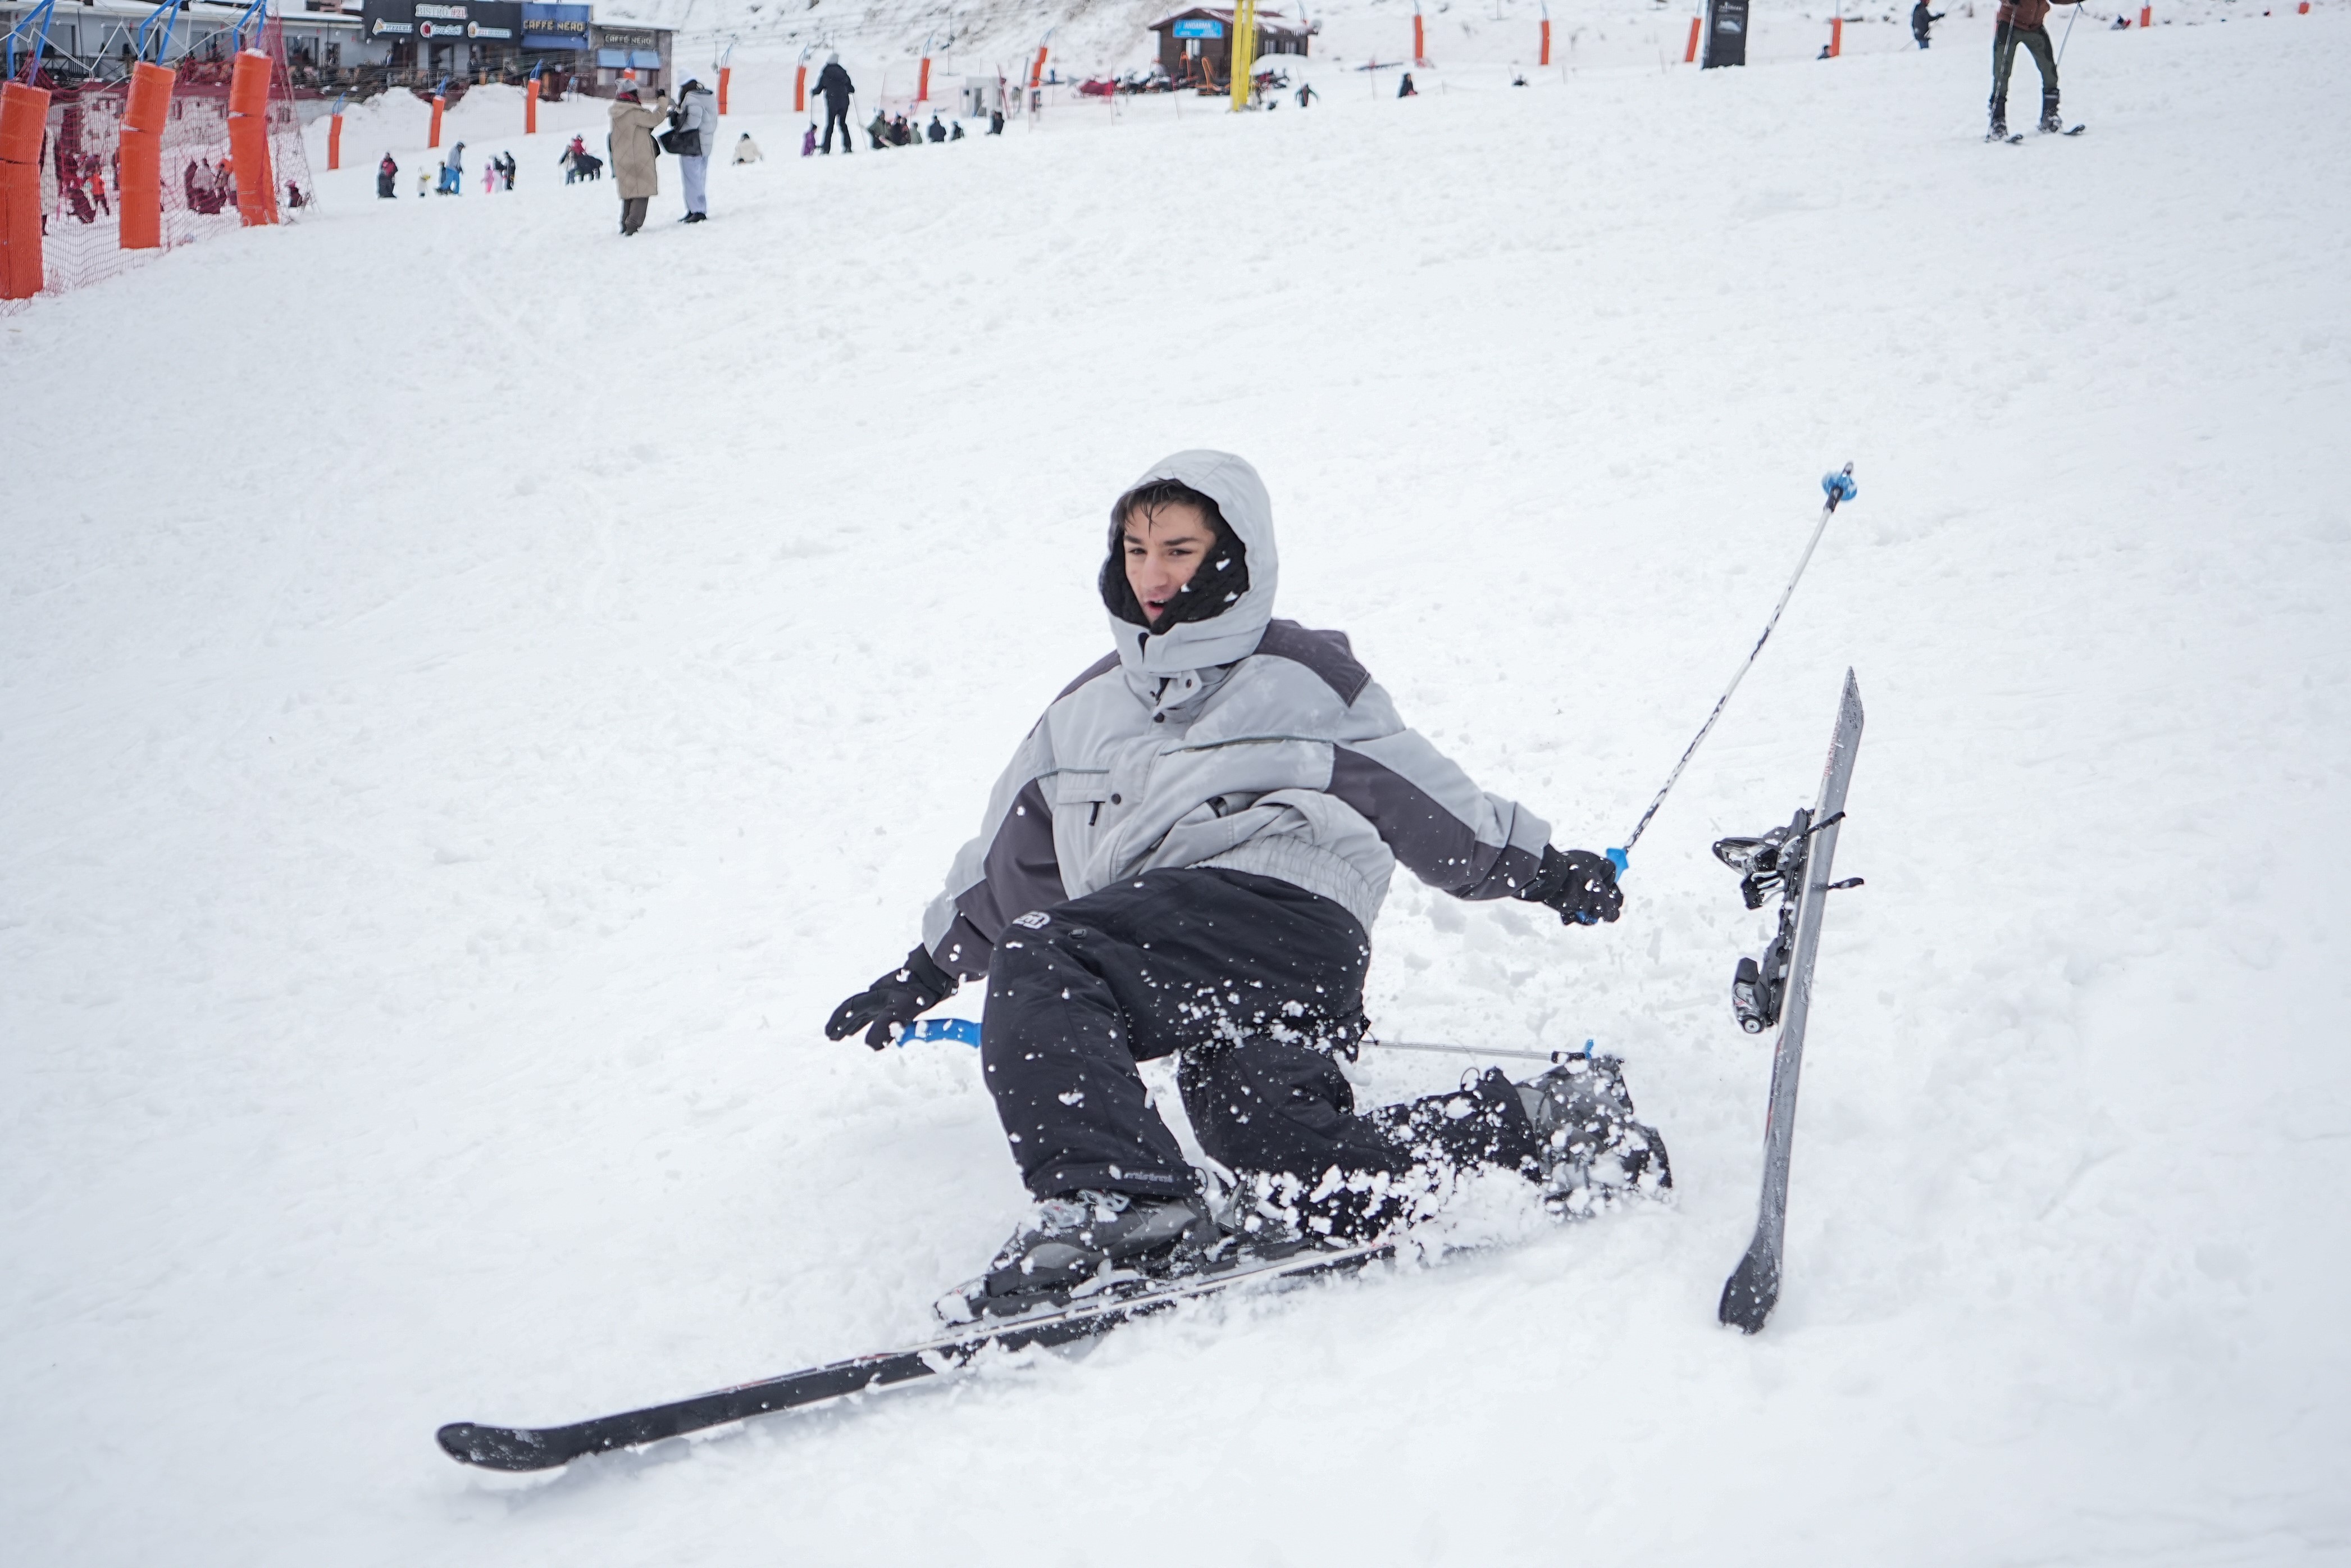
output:
M1136 1072L1168 1053L1201 1150L1317 1232L1378 1229L1467 1166L1538 1175L1535 1128L1500 1072L1354 1112L1331 1053L1364 1034L1368 961L1338 903L1215 867L1143 872L1009 924L980 1056L1030 1192L1194 1192Z

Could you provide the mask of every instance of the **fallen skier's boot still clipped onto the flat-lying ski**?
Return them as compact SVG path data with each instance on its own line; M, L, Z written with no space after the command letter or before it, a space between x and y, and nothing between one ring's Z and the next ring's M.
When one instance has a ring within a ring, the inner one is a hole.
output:
M1197 1197L1143 1199L1086 1190L1039 1199L987 1272L938 1300L938 1316L971 1324L1060 1307L1119 1272L1161 1269L1206 1253L1215 1239L1215 1220Z

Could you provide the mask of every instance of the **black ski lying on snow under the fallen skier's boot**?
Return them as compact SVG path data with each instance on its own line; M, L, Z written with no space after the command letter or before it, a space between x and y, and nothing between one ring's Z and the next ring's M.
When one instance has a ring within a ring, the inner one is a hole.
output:
M969 1366L985 1349L1025 1349L1030 1345L1072 1345L1110 1333L1152 1312L1166 1312L1178 1302L1218 1295L1244 1284L1274 1284L1312 1279L1317 1274L1352 1274L1394 1255L1394 1244L1371 1241L1364 1246L1293 1253L1270 1262L1237 1265L1215 1274L1197 1274L1183 1281L1126 1281L1103 1295L1074 1300L1067 1307L1034 1312L1027 1316L973 1324L966 1333L891 1349L872 1356L851 1356L828 1366L811 1366L799 1373L745 1382L694 1399L600 1415L569 1427L484 1427L477 1422L449 1422L435 1436L451 1460L482 1465L484 1469L555 1469L590 1453L614 1448L637 1448L661 1439L724 1427L726 1422L771 1410L797 1410L799 1406L860 1394L865 1389L936 1378Z

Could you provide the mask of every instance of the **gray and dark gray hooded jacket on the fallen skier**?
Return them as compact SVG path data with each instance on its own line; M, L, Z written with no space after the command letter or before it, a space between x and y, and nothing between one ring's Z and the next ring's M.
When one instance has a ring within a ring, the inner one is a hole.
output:
M1366 931L1399 860L1455 898L1523 889L1549 825L1406 729L1345 632L1272 618L1274 515L1258 470L1178 451L1136 484L1152 480L1218 503L1248 590L1166 632L1112 616L1117 654L1037 719L922 922L938 966L983 976L1016 917L1145 870L1279 877Z

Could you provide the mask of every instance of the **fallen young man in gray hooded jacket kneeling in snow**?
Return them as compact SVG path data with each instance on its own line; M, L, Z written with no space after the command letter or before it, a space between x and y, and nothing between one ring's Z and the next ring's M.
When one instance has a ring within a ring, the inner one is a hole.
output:
M1406 729L1342 632L1274 618L1255 468L1152 465L1110 508L1096 588L1114 651L1020 741L922 943L825 1025L884 1048L987 978L980 1065L1034 1208L940 1312L1020 1312L1107 1265L1366 1239L1476 1166L1563 1208L1672 1185L1613 1058L1357 1112L1338 1058L1366 1039L1396 863L1568 924L1617 919L1622 893L1608 858L1554 849ZM1136 1063L1166 1056L1230 1190L1152 1110Z

